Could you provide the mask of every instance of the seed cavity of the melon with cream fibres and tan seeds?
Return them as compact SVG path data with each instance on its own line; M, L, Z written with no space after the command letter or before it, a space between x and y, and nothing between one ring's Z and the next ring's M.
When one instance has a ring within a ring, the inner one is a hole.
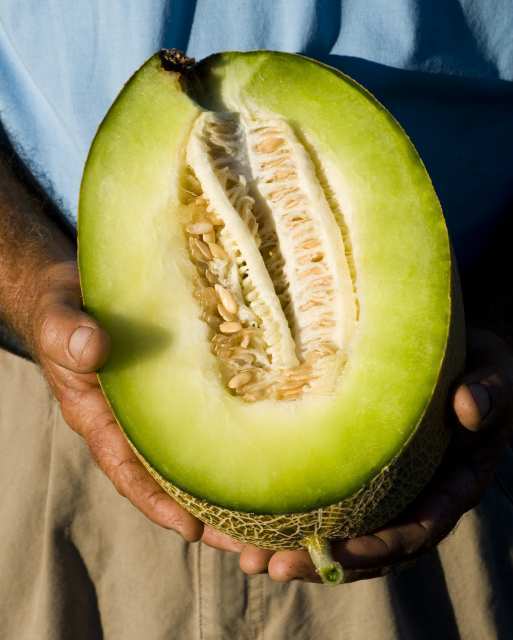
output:
M205 112L185 182L194 294L227 388L249 402L333 392L356 321L354 282L291 127L269 114Z

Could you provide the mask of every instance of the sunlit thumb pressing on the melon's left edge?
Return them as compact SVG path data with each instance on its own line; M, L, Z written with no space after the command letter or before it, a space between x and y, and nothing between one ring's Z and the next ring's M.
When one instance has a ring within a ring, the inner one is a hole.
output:
M109 354L108 334L83 311L55 302L41 314L36 329L40 358L76 373L96 371Z

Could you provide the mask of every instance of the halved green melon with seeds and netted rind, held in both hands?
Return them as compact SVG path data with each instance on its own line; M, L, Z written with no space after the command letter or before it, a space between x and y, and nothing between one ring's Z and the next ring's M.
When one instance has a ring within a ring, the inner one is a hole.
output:
M108 401L203 521L318 558L431 477L463 359L447 230L405 133L340 72L153 56L92 145L79 266Z

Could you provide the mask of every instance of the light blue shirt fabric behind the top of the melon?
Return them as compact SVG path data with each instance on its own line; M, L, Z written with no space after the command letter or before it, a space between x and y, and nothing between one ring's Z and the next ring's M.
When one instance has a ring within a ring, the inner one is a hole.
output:
M415 142L463 262L511 210L512 0L4 0L3 127L70 221L101 118L161 47L301 52L354 76Z

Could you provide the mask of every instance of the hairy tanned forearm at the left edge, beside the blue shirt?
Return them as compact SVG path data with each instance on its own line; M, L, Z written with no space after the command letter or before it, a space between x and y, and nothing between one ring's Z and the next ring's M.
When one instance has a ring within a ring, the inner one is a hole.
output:
M0 150L0 319L33 353L33 319L53 265L75 259L73 242L45 212Z

